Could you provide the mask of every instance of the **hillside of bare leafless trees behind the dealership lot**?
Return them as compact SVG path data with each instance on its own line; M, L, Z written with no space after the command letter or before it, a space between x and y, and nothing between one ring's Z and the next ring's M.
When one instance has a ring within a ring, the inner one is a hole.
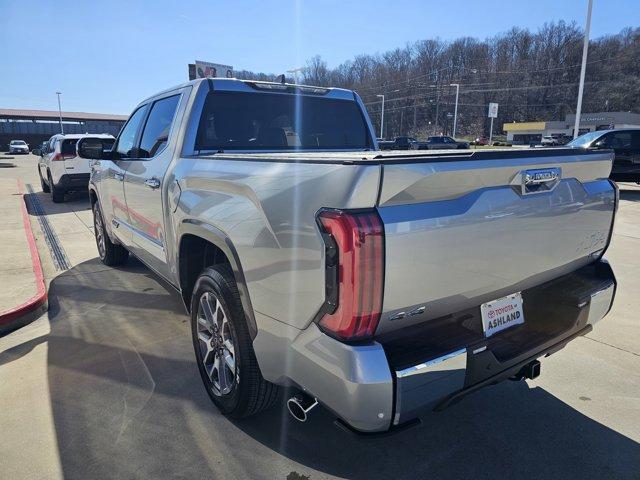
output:
M356 90L379 127L385 95L385 136L450 132L460 84L458 134L489 133L487 106L500 104L494 133L512 121L561 120L574 113L583 32L574 23L545 24L536 32L512 28L484 40L420 40L335 68L311 58L299 81ZM237 72L240 78L273 75ZM292 80L292 79L288 79ZM593 39L589 46L583 112L640 112L640 28Z

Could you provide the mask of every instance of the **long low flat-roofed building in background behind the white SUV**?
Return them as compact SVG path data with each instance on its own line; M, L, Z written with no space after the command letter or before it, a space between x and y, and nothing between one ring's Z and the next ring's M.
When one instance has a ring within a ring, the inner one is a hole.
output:
M64 133L110 133L116 136L126 115L62 112ZM24 140L31 148L60 133L58 111L0 108L0 150L8 150L11 140Z

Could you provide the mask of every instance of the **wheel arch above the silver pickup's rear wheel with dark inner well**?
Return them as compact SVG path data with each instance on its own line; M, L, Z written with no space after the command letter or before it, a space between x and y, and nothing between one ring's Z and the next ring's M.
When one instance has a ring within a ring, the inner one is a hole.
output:
M209 266L228 264L233 271L249 334L258 333L249 290L242 265L231 239L220 229L195 219L184 220L179 227L177 242L177 270L182 301L187 311L191 308L191 294L200 272Z

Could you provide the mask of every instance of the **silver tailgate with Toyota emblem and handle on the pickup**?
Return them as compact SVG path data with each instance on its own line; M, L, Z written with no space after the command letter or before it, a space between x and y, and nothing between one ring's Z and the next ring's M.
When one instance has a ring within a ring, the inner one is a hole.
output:
M494 158L492 158L494 157ZM385 158L384 334L540 285L607 246L613 154Z

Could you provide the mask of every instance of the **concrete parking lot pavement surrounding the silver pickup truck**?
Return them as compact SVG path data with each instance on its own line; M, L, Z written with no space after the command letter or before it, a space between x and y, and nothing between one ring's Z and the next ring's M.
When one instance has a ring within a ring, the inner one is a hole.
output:
M362 439L321 409L300 424L284 402L243 421L220 415L178 295L135 260L103 266L86 194L53 204L35 157L14 162L0 178L32 186L68 268L32 221L50 307L0 337L0 477L640 479L637 186L622 185L607 254L617 299L592 333L544 359L535 381L503 382L417 428Z

